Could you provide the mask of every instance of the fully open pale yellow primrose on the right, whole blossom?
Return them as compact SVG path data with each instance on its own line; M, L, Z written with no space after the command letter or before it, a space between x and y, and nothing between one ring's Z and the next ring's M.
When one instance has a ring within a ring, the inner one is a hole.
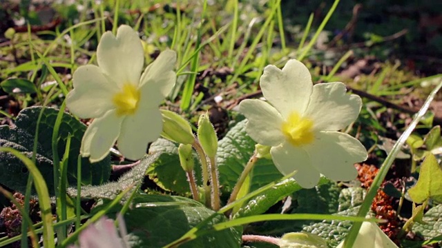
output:
M339 82L313 85L307 67L295 59L282 70L268 65L260 87L268 103L247 99L240 103L240 112L248 120L246 132L271 147L282 174L296 170L294 179L304 188L314 187L320 174L332 180L356 178L354 163L365 161L367 150L338 130L356 120L362 106L359 96L346 94Z

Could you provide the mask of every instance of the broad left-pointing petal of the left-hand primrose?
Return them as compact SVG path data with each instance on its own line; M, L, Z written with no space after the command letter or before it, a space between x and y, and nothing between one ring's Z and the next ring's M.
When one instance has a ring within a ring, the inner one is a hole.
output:
M96 65L80 66L73 75L74 90L66 96L70 112L80 118L97 118L114 108L117 87Z

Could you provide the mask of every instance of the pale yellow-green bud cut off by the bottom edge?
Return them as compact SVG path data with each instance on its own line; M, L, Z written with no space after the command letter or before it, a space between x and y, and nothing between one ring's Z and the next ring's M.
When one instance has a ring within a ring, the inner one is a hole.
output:
M309 233L288 233L284 234L279 241L281 248L320 248L328 247L327 242L320 236Z

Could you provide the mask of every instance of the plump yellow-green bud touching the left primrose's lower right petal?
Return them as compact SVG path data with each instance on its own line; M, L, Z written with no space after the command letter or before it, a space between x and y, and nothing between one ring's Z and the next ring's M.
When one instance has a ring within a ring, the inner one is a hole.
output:
M163 116L162 137L182 144L192 144L195 141L191 125L182 116L169 110L161 110L161 114Z

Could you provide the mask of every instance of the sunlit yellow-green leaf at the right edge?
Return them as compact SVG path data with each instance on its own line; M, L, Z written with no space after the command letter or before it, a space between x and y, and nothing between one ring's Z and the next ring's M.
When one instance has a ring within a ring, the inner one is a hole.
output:
M428 154L421 165L419 179L408 194L415 203L423 203L427 198L442 203L442 169L433 154Z

